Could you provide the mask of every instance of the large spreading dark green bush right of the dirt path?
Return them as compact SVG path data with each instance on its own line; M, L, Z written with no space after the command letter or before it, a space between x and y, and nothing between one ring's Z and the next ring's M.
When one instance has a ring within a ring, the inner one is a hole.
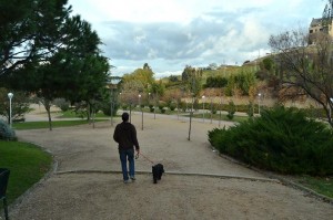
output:
M209 132L220 153L282 174L332 175L333 133L297 109L274 107L261 117Z

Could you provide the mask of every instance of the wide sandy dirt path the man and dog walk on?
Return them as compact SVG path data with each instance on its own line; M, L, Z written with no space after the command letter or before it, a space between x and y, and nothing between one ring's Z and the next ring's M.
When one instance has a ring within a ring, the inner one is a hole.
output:
M32 119L36 115L31 115ZM151 163L135 160L137 181L124 185L113 129L120 118L90 125L17 130L54 156L48 178L10 207L18 220L332 219L333 207L306 192L220 157L208 143L218 126L198 119L132 115L142 154L164 165L152 184ZM223 123L222 126L231 124ZM1 218L0 218L1 219Z

